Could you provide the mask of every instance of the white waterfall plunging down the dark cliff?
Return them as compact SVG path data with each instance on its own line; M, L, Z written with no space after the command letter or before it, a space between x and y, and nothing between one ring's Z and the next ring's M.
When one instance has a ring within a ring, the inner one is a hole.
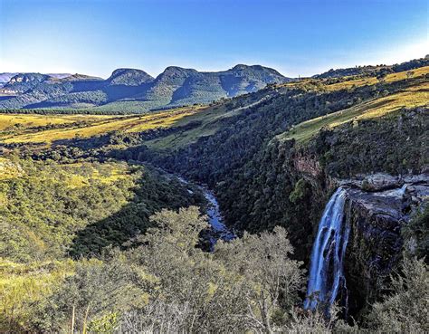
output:
M346 289L343 261L350 226L344 218L346 189L339 187L329 199L319 222L318 234L310 259L310 278L304 308L314 310L318 304L328 307L338 291ZM346 222L344 222L346 221Z

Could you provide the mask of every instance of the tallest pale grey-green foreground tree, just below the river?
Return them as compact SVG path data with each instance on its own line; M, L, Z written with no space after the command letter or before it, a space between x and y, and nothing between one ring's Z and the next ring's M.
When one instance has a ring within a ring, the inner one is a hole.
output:
M138 238L142 245L130 251L129 258L147 268L157 283L148 305L125 313L122 325L132 329L138 324L146 331L243 331L243 281L196 247L207 228L206 217L190 206L178 212L162 210L151 220L157 227Z

